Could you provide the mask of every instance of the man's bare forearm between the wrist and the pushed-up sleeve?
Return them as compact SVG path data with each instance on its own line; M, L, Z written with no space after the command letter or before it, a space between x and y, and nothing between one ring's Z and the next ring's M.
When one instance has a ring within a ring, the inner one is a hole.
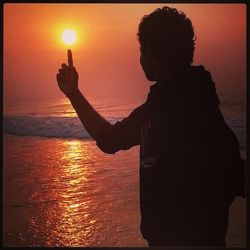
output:
M96 140L100 130L106 121L86 100L79 90L68 95L68 98L75 109L79 119L89 135Z

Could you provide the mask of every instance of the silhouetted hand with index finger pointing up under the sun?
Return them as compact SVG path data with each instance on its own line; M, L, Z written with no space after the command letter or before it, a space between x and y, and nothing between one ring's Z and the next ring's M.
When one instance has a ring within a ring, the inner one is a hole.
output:
M73 66L73 58L71 50L68 50L68 65L63 63L56 75L57 83L60 90L70 96L78 91L78 73Z

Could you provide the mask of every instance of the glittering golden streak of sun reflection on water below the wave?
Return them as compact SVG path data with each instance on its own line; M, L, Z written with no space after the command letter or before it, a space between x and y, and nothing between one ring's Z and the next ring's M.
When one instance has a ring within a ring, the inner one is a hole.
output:
M81 141L64 141L63 148L61 162L64 162L64 166L58 199L60 209L57 211L60 220L47 243L56 237L64 246L83 246L91 238L96 223L91 211L91 200L87 198L88 180L92 174L88 165L91 156Z

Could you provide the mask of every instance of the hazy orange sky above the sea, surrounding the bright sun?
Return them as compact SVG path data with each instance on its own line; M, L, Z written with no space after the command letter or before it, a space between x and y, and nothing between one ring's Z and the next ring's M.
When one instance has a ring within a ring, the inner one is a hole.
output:
M164 4L166 5L166 4ZM66 62L64 28L86 96L146 94L138 24L163 4L4 4L4 97L60 97L55 75ZM197 36L194 64L211 71L219 92L245 91L246 5L168 4L182 10Z

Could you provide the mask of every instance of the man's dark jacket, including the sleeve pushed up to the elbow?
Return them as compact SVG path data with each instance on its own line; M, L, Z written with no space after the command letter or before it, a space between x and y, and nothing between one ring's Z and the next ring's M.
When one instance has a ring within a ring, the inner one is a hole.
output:
M210 73L190 66L155 83L143 105L100 132L97 145L106 153L140 145L144 238L226 232L241 157L219 104Z

